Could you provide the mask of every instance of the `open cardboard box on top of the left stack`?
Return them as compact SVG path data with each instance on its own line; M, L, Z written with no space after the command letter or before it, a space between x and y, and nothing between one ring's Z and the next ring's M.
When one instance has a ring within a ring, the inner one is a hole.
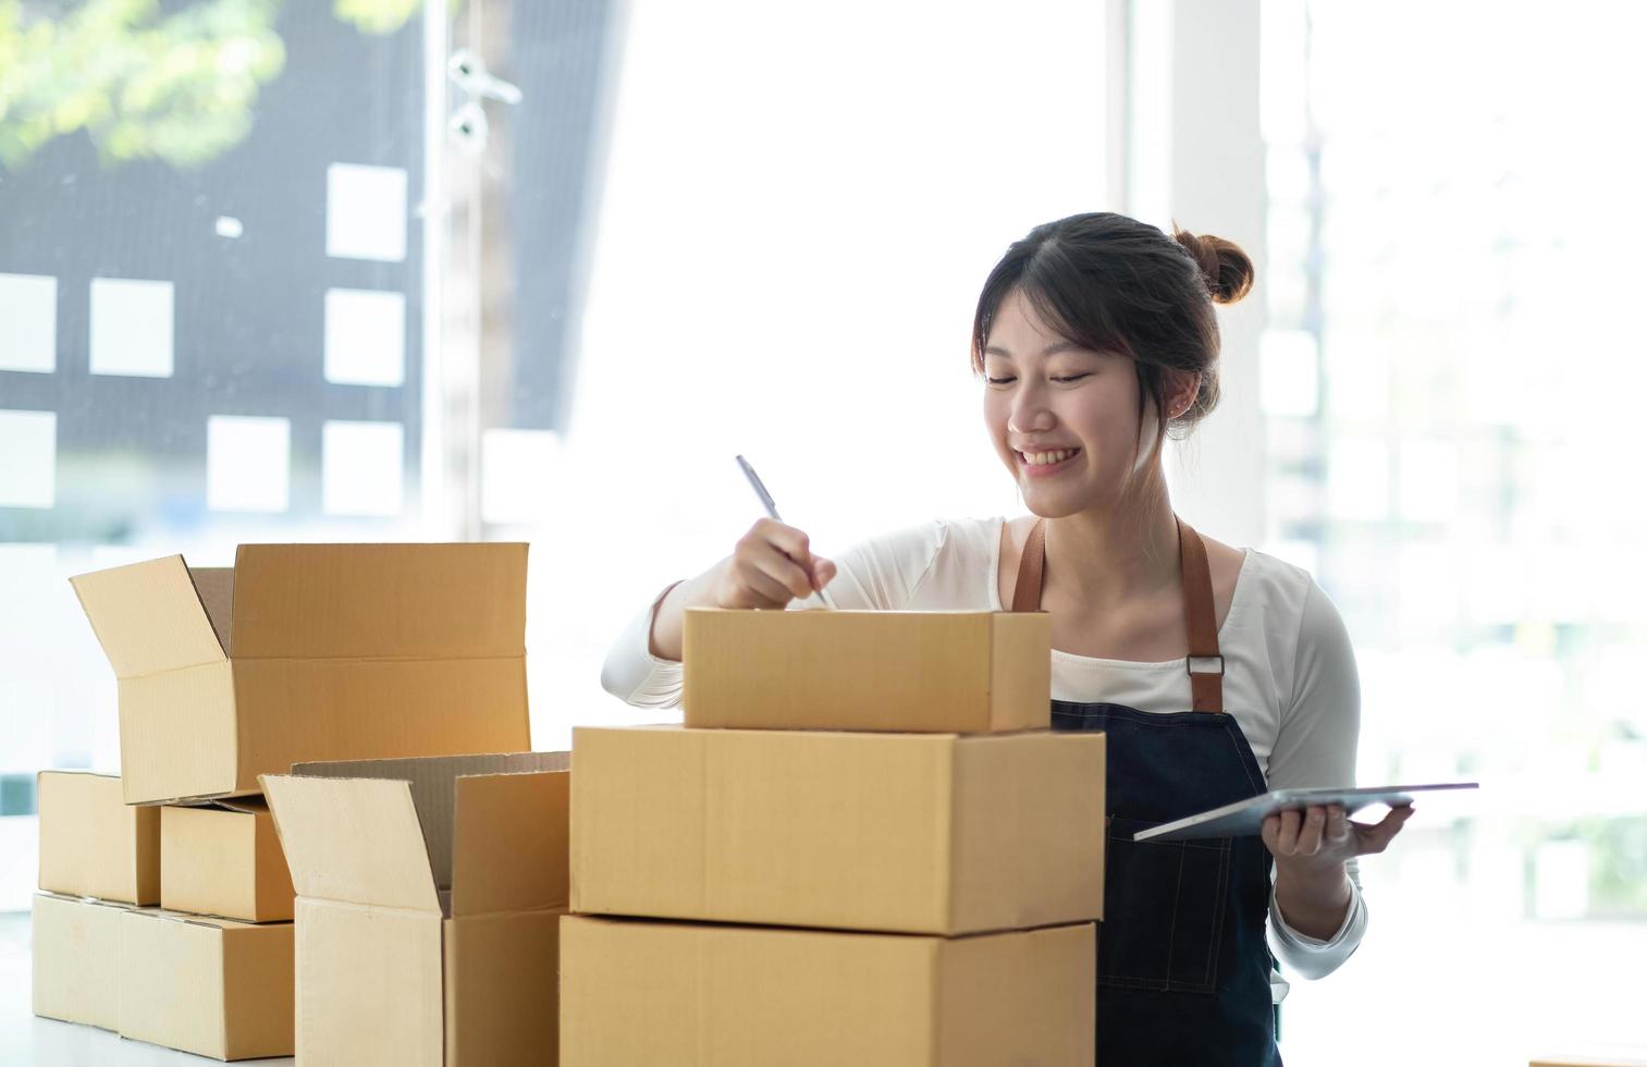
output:
M525 545L242 545L74 578L119 678L125 802L311 759L530 744Z

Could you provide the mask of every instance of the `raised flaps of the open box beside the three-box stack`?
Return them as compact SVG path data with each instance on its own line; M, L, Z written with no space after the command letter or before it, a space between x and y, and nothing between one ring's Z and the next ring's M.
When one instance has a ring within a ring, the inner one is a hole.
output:
M262 782L298 896L476 914L567 902L570 766L570 752L359 759Z

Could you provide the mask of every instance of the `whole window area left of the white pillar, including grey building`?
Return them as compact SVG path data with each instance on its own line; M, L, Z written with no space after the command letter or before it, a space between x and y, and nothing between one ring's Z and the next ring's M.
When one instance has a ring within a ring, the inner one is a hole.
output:
M33 772L119 766L69 575L530 540L550 749L656 718L600 664L761 514L733 454L822 552L1016 506L972 305L1107 203L1100 5L135 10L0 0L0 907ZM71 44L125 81L12 64Z

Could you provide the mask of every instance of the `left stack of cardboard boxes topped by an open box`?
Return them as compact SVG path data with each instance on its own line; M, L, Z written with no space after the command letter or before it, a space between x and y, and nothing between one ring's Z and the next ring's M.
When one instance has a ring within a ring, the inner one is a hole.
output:
M293 883L259 774L524 749L524 545L244 545L74 580L122 777L41 776L36 1014L293 1052ZM158 904L158 907L155 907Z

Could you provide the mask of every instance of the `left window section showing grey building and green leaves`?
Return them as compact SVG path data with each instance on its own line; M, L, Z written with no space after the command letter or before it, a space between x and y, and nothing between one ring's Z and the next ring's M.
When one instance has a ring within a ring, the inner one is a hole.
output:
M565 428L618 8L428 12L0 0L0 909L119 769L69 575L484 535Z

